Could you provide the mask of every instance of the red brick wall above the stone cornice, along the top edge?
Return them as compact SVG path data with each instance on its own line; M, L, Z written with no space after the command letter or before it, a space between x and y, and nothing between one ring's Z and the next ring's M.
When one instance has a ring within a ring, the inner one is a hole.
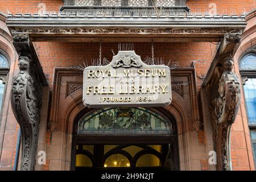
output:
M1 0L0 11L3 13L38 13L39 3L46 4L46 11L58 12L63 5L62 0ZM219 14L242 14L244 11L250 11L256 8L255 0L225 0L225 1L206 1L206 0L188 0L187 5L191 9L191 13L208 13L212 6L211 3L216 3L217 13ZM8 11L7 11L8 10Z

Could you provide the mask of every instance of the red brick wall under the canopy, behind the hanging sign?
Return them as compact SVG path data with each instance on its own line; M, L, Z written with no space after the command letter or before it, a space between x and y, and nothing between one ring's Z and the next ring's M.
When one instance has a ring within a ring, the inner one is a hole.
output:
M71 68L82 64L82 61L89 61L98 58L98 43L63 43L63 42L37 42L34 43L38 53L43 71L47 77L50 89L52 89L53 69ZM118 52L118 45L115 43L102 44L102 57L112 60L113 53ZM151 43L134 44L135 52L142 60L151 56ZM190 67L195 63L197 76L204 77L216 53L216 44L213 43L155 43L155 57L163 57L166 64L171 60L179 67ZM178 63L176 63L178 62ZM200 88L201 80L197 79Z

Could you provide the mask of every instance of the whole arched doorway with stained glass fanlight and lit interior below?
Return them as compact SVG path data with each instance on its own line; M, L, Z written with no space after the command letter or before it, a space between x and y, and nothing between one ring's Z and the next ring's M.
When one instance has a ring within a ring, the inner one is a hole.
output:
M175 118L162 108L81 111L73 126L71 168L178 170Z

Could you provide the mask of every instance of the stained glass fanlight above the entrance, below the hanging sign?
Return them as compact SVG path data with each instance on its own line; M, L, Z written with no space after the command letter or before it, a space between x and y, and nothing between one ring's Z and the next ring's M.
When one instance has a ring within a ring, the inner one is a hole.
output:
M82 117L77 134L166 135L172 134L172 126L167 118L142 107L105 108Z

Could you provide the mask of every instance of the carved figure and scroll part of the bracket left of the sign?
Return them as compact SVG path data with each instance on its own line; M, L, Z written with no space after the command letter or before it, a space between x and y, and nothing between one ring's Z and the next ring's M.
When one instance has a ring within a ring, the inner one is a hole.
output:
M42 84L31 61L29 56L19 56L20 71L14 77L11 96L11 105L22 134L23 171L34 170L42 105Z

